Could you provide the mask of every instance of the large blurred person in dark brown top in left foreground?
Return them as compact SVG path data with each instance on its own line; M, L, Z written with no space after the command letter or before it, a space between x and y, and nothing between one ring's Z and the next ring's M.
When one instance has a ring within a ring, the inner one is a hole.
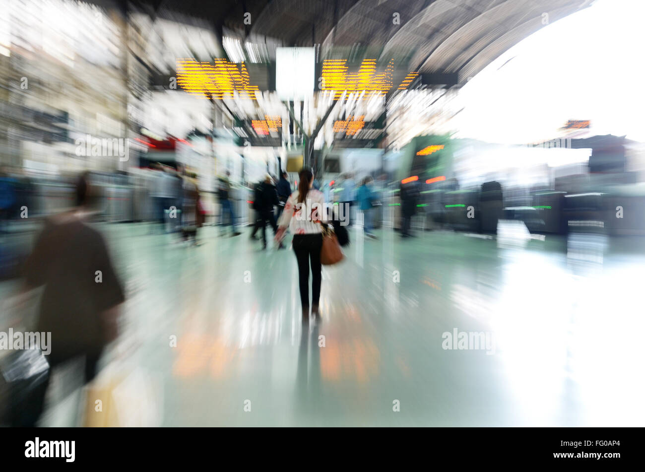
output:
M76 182L74 210L45 221L25 264L25 290L44 287L36 331L51 333L51 368L67 360L85 359L84 382L97 374L106 344L117 337L124 291L103 236L88 224L99 200L84 173ZM45 389L34 399L28 424L35 426L45 405Z

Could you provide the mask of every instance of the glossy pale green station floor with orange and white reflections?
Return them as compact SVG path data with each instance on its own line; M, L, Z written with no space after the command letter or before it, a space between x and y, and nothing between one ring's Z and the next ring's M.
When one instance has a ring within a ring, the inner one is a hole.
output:
M121 382L112 424L645 424L640 239L353 228L303 326L291 250L248 230L203 228L198 247L101 231L128 292L101 377ZM73 422L79 398L43 424Z

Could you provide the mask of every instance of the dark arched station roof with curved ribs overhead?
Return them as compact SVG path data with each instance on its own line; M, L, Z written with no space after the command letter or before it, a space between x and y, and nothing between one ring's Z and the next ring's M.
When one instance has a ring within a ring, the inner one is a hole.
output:
M268 37L285 46L321 45L323 57L348 48L362 48L364 54L383 61L404 57L409 70L457 73L459 83L464 83L524 37L587 8L589 2L134 0L129 5L157 17L205 20L219 37L227 28L242 38Z

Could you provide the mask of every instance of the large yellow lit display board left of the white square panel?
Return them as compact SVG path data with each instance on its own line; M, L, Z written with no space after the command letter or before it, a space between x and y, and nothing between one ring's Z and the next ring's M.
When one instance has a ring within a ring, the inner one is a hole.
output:
M177 59L177 83L183 90L201 98L233 98L255 100L258 87L250 84L244 63L215 59L215 64L198 63L195 59Z

